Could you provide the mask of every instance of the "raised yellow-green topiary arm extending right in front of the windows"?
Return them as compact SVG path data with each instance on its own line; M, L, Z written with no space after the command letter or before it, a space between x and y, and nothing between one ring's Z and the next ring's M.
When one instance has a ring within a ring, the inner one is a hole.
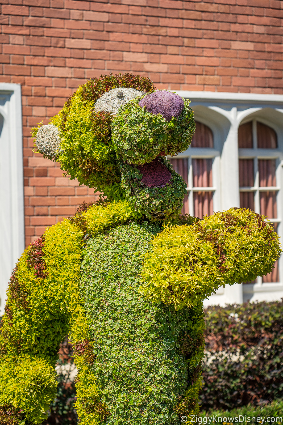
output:
M271 272L281 245L272 224L244 208L217 212L191 226L166 227L143 264L146 297L175 309Z

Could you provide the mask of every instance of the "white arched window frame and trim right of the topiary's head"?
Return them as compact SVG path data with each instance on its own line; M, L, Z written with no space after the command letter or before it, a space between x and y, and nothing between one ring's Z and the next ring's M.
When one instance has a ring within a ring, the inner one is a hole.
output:
M283 187L283 95L198 91L177 91L176 93L191 100L195 120L207 125L213 132L213 150L189 147L177 158L188 157L189 161L191 158L214 158L214 211L240 207L239 157L255 158L256 155L260 159L277 158L277 219L271 221L278 222L277 231L283 240L283 224L281 223L283 210L283 196L281 195L281 187ZM256 151L254 149L238 149L238 127L251 120L263 122L275 130L278 149ZM192 172L191 175L189 172L188 177L189 212L192 213L193 204L190 201L190 194L192 199L195 189L192 187ZM202 190L205 189L208 188L202 188ZM211 190L211 188L209 189ZM255 190L258 188L255 187ZM257 208L259 208L259 204ZM205 305L220 304L224 306L225 303L241 303L247 299L251 301L279 300L283 297L283 256L279 260L279 276L280 282L278 283L262 283L262 280L258 279L255 284L243 285L241 283L220 288L216 294L205 300Z

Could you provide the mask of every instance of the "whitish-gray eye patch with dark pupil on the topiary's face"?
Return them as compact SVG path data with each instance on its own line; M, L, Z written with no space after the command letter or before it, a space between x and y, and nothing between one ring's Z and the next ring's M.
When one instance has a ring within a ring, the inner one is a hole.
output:
M130 87L113 88L104 93L104 95L95 102L94 109L96 112L105 111L116 115L121 105L126 105L130 100L145 94L146 93L143 91L135 90Z

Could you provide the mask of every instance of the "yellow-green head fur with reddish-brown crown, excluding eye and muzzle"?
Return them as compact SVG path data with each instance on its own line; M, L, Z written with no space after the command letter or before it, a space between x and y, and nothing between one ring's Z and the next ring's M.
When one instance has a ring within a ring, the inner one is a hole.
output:
M123 199L120 170L111 142L113 115L95 112L94 104L106 91L132 87L151 92L153 83L133 74L102 75L81 85L50 123L60 131L59 162L70 177L93 187L109 199ZM33 129L36 137L38 128Z

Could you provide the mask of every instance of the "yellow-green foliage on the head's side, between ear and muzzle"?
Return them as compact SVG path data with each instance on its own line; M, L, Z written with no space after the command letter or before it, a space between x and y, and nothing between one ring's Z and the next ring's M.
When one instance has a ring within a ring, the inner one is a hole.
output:
M71 178L110 197L114 190L119 198L123 190L119 192L120 172L115 151L97 133L101 128L92 124L95 102L82 99L82 91L83 87L79 87L62 111L50 120L60 131L58 161Z

